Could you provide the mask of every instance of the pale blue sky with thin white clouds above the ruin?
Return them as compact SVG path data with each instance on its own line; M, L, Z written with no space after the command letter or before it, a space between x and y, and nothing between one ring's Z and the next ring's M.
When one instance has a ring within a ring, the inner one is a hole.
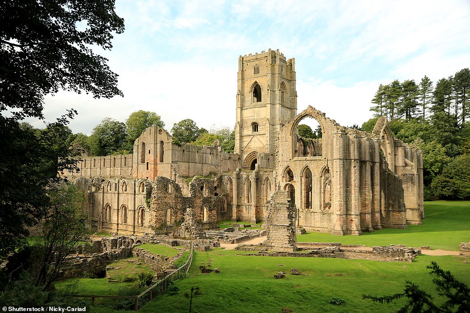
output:
M74 133L104 118L157 113L171 130L192 119L235 126L238 56L279 49L296 59L298 113L308 105L340 125L362 125L379 84L434 83L470 66L469 0L116 0L125 32L96 50L124 97L46 96L55 121L74 108ZM41 127L42 121L30 121Z

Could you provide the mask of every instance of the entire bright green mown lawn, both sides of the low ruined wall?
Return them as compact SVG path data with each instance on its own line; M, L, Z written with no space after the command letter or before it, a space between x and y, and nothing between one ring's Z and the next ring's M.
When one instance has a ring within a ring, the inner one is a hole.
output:
M363 236L310 233L299 235L298 240L368 246L429 245L432 249L458 250L460 242L470 240L470 207L458 204L426 203L427 219L423 225L409 226L406 230L384 229ZM406 280L411 280L431 293L436 301L442 301L426 269L431 261L436 261L444 270L451 271L457 279L470 285L470 260L464 256L420 255L409 263L240 255L243 253L220 248L196 251L188 276L175 282L179 292L157 296L140 312L189 312L189 299L184 293L191 293L192 287L198 287L201 292L194 297L192 307L193 312L199 313L280 313L283 307L291 308L295 313L395 312L403 301L381 305L363 300L362 295L399 293L403 291ZM199 266L203 264L211 264L212 269L219 268L220 273L200 273ZM292 268L306 275L291 275ZM278 271L286 272L286 278L274 279L273 275ZM329 304L332 297L341 298L346 304ZM111 310L97 307L96 312Z

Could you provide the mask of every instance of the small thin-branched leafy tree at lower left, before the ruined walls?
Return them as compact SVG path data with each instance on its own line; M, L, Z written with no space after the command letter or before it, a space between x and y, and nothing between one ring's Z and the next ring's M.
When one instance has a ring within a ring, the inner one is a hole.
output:
M88 214L83 192L72 184L49 188L50 203L43 216L43 233L34 244L32 273L36 286L44 290L54 282L70 262L66 256L85 241Z

